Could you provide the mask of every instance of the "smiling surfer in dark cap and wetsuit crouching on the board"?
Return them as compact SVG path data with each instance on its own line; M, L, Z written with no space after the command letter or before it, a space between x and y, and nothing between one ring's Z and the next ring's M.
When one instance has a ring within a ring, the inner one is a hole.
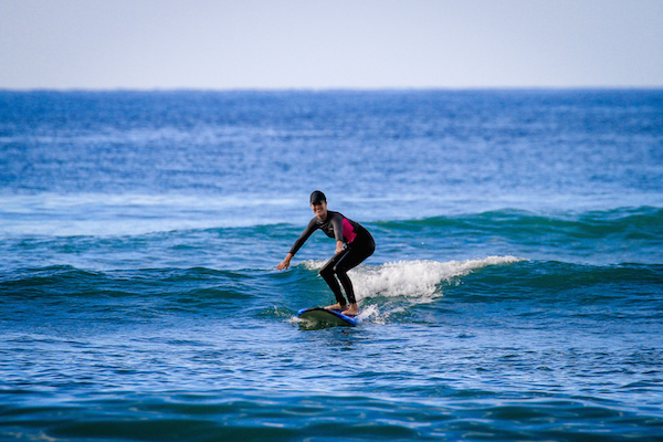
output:
M315 217L276 269L286 270L290 267L290 262L295 253L304 245L313 232L320 229L327 236L336 240L336 254L320 270L320 276L323 276L329 288L332 288L332 292L334 292L337 303L325 308L341 311L344 315L358 315L359 307L355 298L355 290L347 272L372 255L376 250L373 238L359 223L338 212L327 210L327 198L319 190L311 193L311 209L313 209ZM348 297L348 303L343 297L340 285L338 284L339 281Z

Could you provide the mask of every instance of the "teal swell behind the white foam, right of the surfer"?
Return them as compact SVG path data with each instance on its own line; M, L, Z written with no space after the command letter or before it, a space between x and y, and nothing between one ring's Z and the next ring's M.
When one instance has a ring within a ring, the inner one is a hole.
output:
M390 221L379 228L388 234L396 232L393 240L407 248L442 248L445 253L514 253L594 264L663 262L663 210L653 207L581 212L498 210Z

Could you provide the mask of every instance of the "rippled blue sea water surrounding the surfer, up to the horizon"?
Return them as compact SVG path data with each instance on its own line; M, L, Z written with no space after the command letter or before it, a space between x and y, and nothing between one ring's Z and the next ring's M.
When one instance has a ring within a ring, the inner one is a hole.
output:
M663 440L663 91L0 91L0 440Z

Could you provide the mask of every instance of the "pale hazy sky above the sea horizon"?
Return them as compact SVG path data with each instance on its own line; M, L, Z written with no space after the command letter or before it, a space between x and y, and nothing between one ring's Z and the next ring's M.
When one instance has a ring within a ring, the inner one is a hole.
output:
M663 86L663 0L0 0L0 88Z

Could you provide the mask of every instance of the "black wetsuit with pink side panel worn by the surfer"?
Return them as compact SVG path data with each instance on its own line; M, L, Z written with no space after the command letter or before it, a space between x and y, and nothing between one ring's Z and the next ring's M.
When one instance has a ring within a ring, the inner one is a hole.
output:
M327 211L327 218L322 221L318 217L315 217L308 223L308 227L302 232L302 235L295 241L295 244L291 249L291 253L294 255L297 253L299 248L304 245L306 240L315 232L320 229L327 236L334 238L336 241L341 241L346 244L346 248L335 254L328 263L320 270L320 276L327 282L332 292L336 296L336 301L340 305L345 305L345 298L340 293L340 286L338 281L345 290L346 296L350 304L357 303L355 298L355 290L352 283L347 275L350 269L359 265L368 256L372 255L376 250L376 243L371 234L359 223L344 217L338 212L332 210ZM338 281L336 277L338 276Z

